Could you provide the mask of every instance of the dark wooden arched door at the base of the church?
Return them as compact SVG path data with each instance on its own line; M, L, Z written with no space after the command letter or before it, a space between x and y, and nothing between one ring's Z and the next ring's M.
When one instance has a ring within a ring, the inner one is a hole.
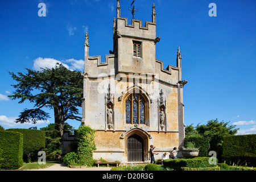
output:
M127 139L128 162L143 161L143 138L139 135L131 135Z

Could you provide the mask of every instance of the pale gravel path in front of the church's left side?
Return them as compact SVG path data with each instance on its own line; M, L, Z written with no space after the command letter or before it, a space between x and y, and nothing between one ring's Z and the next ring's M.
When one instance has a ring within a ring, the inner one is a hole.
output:
M54 164L53 166L42 169L29 169L29 171L110 171L111 167L84 167L69 168L64 164Z

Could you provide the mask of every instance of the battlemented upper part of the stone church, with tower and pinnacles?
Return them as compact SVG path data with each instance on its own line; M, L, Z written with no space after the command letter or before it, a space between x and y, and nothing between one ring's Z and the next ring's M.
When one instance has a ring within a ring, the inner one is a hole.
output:
M98 74L107 75L118 73L159 74L162 80L176 84L181 79L181 53L177 49L176 67L156 59L156 43L160 37L156 36L156 11L152 6L152 21L143 26L142 20L121 17L120 1L117 1L117 17L113 20L113 49L110 55L89 56L89 38L85 35L85 73L88 77ZM112 69L112 72L110 72ZM114 71L113 71L114 70Z

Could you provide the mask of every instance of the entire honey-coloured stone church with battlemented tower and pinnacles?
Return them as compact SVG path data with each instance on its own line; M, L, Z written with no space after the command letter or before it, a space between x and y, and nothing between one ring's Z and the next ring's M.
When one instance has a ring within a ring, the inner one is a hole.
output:
M152 22L121 17L117 0L117 18L113 26L113 51L89 56L89 38L85 37L84 98L82 125L96 129L97 150L94 159L109 162L146 162L150 145L161 157L184 143L183 86L181 55L176 67L163 68L156 59L155 5Z

